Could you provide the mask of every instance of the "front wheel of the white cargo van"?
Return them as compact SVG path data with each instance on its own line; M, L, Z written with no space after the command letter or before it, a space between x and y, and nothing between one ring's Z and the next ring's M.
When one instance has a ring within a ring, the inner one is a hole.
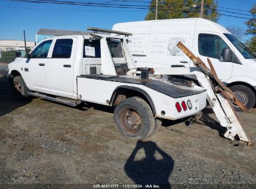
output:
M252 91L248 86L234 85L230 86L230 90L235 93L239 101L241 101L247 109L251 109L254 107L256 97L254 91ZM234 108L236 111L242 111L239 106L234 105Z

